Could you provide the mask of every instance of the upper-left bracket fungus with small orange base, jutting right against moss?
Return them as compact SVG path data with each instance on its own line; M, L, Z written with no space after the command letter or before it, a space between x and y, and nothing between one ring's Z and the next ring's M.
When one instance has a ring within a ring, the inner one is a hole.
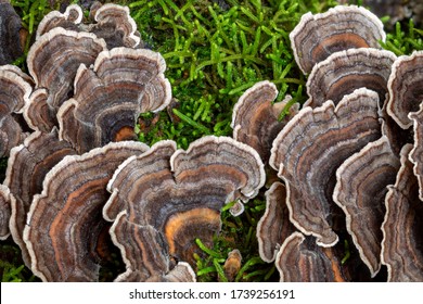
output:
M75 96L60 107L60 138L79 153L111 141L136 139L140 113L157 112L171 100L165 60L157 52L115 48L99 54L92 68L81 65Z

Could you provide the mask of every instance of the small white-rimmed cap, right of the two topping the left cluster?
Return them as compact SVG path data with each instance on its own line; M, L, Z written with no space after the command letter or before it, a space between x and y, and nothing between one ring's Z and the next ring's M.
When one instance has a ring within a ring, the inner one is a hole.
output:
M107 3L94 13L97 24L89 26L89 31L103 38L108 49L116 47L136 48L141 38L137 24L129 14L128 7Z

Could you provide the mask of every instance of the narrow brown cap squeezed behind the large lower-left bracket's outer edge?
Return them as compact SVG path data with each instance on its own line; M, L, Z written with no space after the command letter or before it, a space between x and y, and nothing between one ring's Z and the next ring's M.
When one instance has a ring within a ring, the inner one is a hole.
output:
M76 154L66 141L59 141L57 130L50 134L36 131L11 150L4 185L13 197L10 229L20 245L25 264L30 266L29 253L23 240L27 213L33 197L41 193L47 173L66 155Z

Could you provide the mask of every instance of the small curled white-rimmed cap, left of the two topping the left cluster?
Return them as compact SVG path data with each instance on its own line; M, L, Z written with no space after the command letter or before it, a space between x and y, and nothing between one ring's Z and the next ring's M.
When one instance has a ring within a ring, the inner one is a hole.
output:
M55 27L79 31L79 24L82 22L82 9L77 4L70 4L64 13L51 11L40 22L37 27L37 39Z

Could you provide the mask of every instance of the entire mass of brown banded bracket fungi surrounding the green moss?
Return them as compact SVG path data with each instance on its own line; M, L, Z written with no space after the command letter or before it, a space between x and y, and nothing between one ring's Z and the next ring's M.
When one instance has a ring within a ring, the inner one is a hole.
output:
M290 35L303 106L260 81L233 109L233 138L150 148L132 140L137 116L171 88L128 8L49 13L29 75L0 66L0 239L43 281L97 281L116 253L115 281L195 281L195 240L211 246L221 208L241 214L268 177L258 250L281 281L423 280L423 52L397 58L385 37L362 8L306 14ZM229 279L241 259L229 254Z

